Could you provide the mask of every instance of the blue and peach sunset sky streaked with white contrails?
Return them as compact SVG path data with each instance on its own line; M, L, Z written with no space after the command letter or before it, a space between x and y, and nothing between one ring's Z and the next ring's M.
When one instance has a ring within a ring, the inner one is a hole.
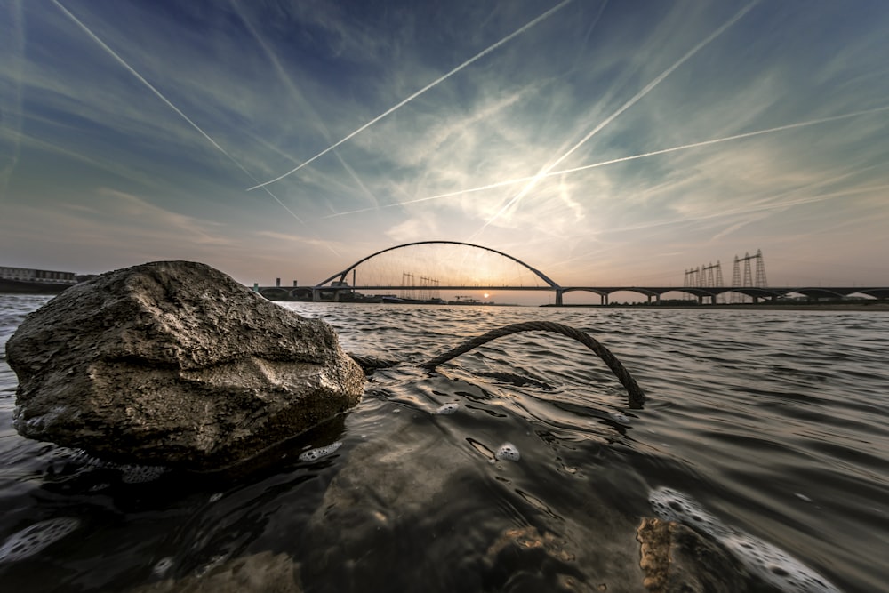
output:
M889 285L884 0L2 0L0 265ZM446 251L442 254L445 257Z

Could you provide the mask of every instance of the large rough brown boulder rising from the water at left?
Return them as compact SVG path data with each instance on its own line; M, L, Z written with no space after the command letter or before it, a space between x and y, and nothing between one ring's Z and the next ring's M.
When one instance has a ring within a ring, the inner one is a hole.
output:
M6 357L22 436L197 470L292 437L364 389L330 325L188 261L69 288L25 318Z

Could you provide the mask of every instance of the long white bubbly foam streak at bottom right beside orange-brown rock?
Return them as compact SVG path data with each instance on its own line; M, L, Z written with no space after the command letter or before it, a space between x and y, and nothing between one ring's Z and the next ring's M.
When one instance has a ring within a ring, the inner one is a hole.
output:
M690 525L725 546L751 573L788 593L839 593L827 579L767 541L724 525L683 493L655 488L648 493L654 513Z

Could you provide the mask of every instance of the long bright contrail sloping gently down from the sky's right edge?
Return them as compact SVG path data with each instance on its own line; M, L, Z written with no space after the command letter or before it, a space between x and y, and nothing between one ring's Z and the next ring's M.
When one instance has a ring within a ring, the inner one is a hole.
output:
M639 158L647 158L648 156L658 156L658 155L666 155L671 152L678 152L680 150L689 150L691 148L701 148L702 146L710 146L713 144L719 144L722 142L730 142L732 140L743 140L744 138L752 138L754 136L761 136L763 134L769 134L774 132L784 132L786 130L793 130L795 128L803 128L810 125L817 124L826 124L828 122L836 122L842 119L848 119L850 117L857 116L865 116L871 113L878 113L880 111L889 110L889 106L878 107L873 109L864 109L862 111L854 111L853 113L845 113L841 116L830 116L830 117L821 117L820 119L810 119L805 122L797 122L796 124L786 124L779 125L773 128L766 128L765 130L757 130L756 132L744 132L741 134L734 134L733 136L725 136L724 138L716 138L714 140L702 140L701 142L693 142L692 144L683 144L682 146L675 146L672 148L661 148L661 150L653 150L651 152L644 152L639 155L633 156L621 156L620 158L613 158L608 161L600 161L598 163L593 164L584 164L579 167L573 167L571 169L562 169L560 171L551 171L544 175L544 177L556 177L557 175L565 175L568 173L574 173L579 171L586 171L587 169L595 169L597 167L604 167L609 164L617 164L617 163L626 163L627 161L635 161ZM496 181L494 183L489 183L487 185L479 186L477 188L469 188L469 189L458 189L457 191L449 191L445 194L437 194L436 196L427 196L427 197L418 197L413 200L405 200L404 202L396 202L395 204L383 204L380 208L393 208L395 206L403 206L407 204L417 204L420 202L428 202L430 200L438 200L444 197L452 197L452 196L460 196L461 194L469 194L477 191L485 191L486 189L493 188L502 188L503 186L513 185L515 183L521 183L523 181L533 180L533 176L528 177L517 177L511 180L505 181ZM339 216L346 216L348 214L357 214L360 212L370 212L375 210L375 208L362 208L360 210L351 210L349 212L339 212L337 214L330 214L325 216L324 218L336 218Z

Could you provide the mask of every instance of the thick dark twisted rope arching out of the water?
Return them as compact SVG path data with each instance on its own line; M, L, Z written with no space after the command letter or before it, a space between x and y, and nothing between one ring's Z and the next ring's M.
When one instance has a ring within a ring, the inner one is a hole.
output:
M532 331L561 333L568 338L573 338L573 340L581 342L581 344L595 352L597 356L605 362L605 365L608 365L608 368L611 369L618 381L621 381L621 385L623 385L624 389L627 389L628 404L630 408L641 409L645 404L645 392L639 387L636 380L633 379L633 376L629 374L626 367L621 364L621 361L612 354L611 350L605 348L605 346L600 344L595 338L589 336L587 333L583 333L570 325L557 324L551 321L526 321L524 323L504 325L501 328L484 333L476 338L472 338L455 349L448 350L444 354L423 363L420 365L420 368L432 371L435 370L436 366L441 365L452 358L459 357L461 354L465 354L469 352L469 350L475 349L486 342L502 338L503 336L508 336L512 333ZM380 358L360 357L355 355L350 356L355 359L358 365L361 365L361 367L364 368L365 372L397 364L397 362Z

